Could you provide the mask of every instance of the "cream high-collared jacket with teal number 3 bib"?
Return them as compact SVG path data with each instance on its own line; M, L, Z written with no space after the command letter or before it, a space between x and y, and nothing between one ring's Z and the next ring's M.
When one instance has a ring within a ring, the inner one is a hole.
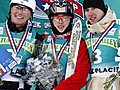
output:
M119 62L115 61L115 57L118 57L120 46L120 26L114 22L115 19L114 12L108 8L104 18L94 25L87 24L89 30L83 34L91 59L91 79L87 90L104 90L103 83L119 71ZM93 34L95 31L98 33ZM119 82L119 78L116 79L108 90L119 90Z

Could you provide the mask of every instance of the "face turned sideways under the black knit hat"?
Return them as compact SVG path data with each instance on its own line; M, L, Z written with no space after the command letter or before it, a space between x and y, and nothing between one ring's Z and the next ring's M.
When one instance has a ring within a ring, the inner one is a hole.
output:
M95 24L103 18L104 12L99 8L90 7L85 9L85 15L91 24Z

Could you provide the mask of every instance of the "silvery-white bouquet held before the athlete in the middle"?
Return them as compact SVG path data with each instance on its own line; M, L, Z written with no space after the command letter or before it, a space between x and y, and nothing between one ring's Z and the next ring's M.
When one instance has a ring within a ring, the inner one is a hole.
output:
M27 74L23 76L29 85L38 85L40 90L52 90L63 78L60 63L54 59L52 53L44 54L39 51L36 59L27 60Z

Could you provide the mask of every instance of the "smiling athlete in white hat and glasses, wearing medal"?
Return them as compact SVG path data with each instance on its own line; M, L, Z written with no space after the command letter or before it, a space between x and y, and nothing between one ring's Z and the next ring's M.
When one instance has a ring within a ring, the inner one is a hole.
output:
M32 23L35 7L35 0L11 0L9 17L0 23L0 49L5 48L17 62L2 76L0 90L30 90L20 77L25 75L26 60L34 54L36 32L28 23Z

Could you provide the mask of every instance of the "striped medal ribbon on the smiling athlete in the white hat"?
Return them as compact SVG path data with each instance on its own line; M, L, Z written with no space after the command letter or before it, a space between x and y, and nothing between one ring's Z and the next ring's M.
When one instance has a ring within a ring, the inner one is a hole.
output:
M12 36L12 33L11 31L9 30L8 28L8 25L7 25L7 22L5 24L5 27L6 27L6 32L7 32L7 35L8 35L8 38L9 38L9 41L10 41L10 45L14 51L15 54L18 54L20 49L22 48L22 45L24 43L24 41L26 40L26 37L27 37L27 34L28 34L28 26L27 28L25 29L20 41L19 41L19 44L18 46L15 45L15 42L14 42L14 39L13 39L13 36Z

